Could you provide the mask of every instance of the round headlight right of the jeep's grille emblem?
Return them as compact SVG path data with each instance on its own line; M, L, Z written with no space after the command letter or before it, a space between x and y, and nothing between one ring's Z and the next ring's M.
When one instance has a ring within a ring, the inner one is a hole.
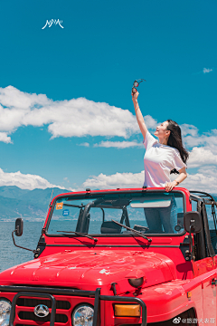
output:
M92 326L93 307L88 304L80 304L71 315L73 326Z

